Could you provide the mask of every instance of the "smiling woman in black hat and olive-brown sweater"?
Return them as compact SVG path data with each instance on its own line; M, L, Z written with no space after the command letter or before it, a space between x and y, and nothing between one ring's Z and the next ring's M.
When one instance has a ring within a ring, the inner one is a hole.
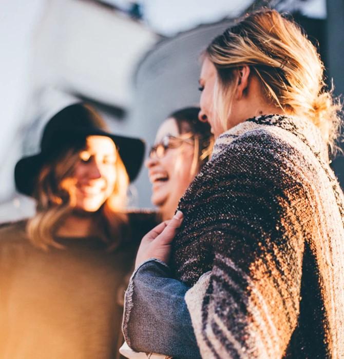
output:
M68 106L16 165L37 213L0 229L1 357L118 356L124 278L155 218L124 212L143 142L104 129L89 106Z

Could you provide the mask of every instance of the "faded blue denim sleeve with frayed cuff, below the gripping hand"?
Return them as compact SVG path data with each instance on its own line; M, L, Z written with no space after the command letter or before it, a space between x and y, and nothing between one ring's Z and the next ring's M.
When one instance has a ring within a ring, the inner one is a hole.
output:
M171 278L158 260L144 262L125 293L123 334L135 351L198 359L194 329L185 303L185 284Z

